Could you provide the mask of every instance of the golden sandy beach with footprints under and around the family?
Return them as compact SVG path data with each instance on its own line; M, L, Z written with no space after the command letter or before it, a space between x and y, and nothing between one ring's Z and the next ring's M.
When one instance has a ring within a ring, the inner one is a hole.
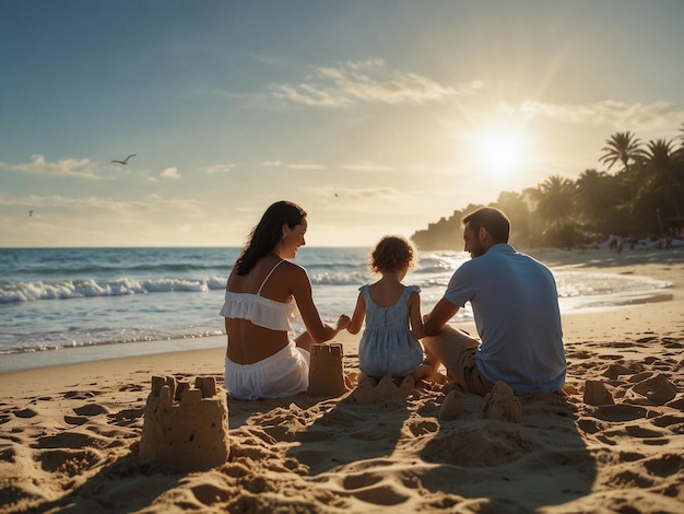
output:
M0 374L0 511L684 512L683 254L532 253L673 283L564 316L565 396L228 399L229 456L204 470L160 469L140 442L153 376L214 377L225 396L222 344ZM334 342L354 385L358 336Z

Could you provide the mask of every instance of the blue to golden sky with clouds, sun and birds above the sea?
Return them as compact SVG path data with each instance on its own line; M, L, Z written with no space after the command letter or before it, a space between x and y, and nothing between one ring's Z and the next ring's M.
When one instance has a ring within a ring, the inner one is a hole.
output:
M0 246L410 236L676 138L682 48L681 0L0 0Z

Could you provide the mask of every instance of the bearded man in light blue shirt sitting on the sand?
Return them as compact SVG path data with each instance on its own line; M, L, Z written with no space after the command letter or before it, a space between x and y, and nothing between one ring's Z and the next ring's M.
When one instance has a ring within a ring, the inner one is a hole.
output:
M510 221L498 209L479 209L462 224L471 260L424 319L422 342L434 369L438 360L465 392L481 396L499 381L516 395L559 390L567 364L551 270L508 244ZM446 325L465 302L480 340Z

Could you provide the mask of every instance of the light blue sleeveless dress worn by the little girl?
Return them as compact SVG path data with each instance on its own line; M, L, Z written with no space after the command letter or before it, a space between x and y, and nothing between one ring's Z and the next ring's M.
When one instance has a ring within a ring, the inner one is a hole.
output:
M406 376L423 363L423 346L411 334L409 296L421 292L417 285L406 285L399 301L389 307L377 305L370 297L368 284L358 290L366 301L366 328L358 344L358 367L368 376Z

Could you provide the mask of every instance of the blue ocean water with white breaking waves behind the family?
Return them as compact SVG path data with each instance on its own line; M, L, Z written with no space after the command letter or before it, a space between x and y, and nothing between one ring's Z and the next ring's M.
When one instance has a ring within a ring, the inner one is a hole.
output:
M366 247L303 247L304 266L325 320L351 315L358 287L372 281ZM238 248L0 249L0 359L73 347L186 340L224 334L226 279ZM404 280L418 284L423 312L441 297L469 257L425 252ZM671 285L634 276L553 270L561 309L620 305ZM453 324L472 320L467 306ZM303 326L295 325L296 330ZM103 350L104 351L104 350ZM96 353L96 351L95 351ZM1 366L0 366L1 367Z

